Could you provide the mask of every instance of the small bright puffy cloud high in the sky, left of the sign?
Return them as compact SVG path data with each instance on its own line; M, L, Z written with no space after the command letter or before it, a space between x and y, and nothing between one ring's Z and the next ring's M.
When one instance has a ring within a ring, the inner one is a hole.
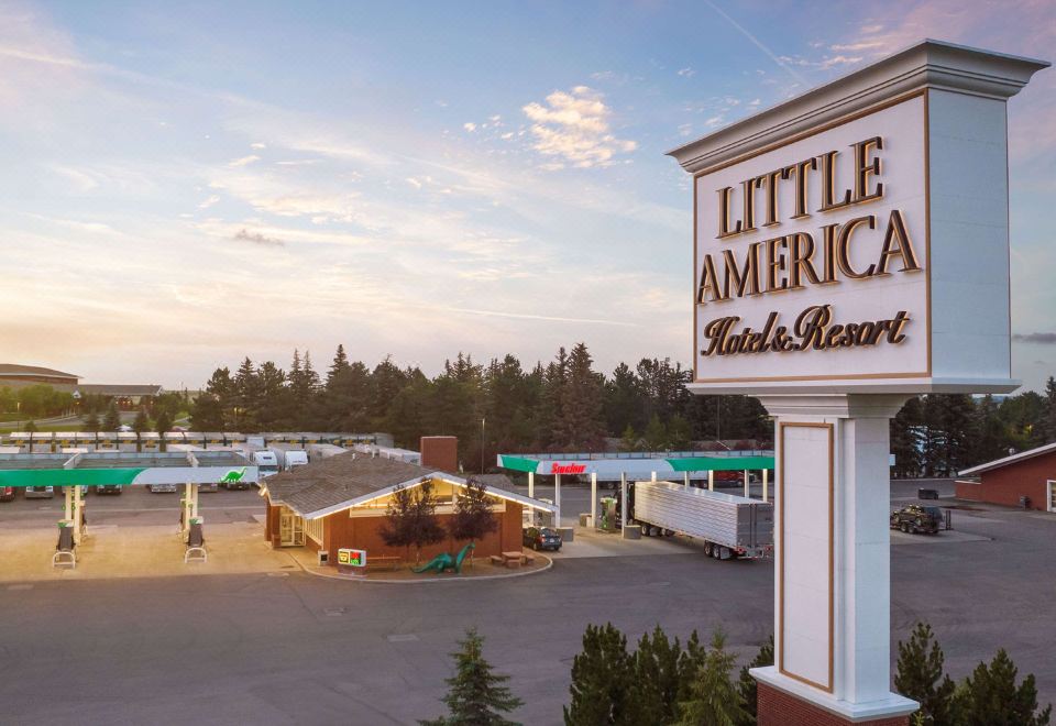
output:
M609 131L612 116L604 96L586 86L570 91L553 91L546 105L531 102L521 109L531 124L535 148L544 156L557 156L572 166L586 168L607 166L616 154L630 153L637 142L617 139ZM547 167L561 168L562 162Z

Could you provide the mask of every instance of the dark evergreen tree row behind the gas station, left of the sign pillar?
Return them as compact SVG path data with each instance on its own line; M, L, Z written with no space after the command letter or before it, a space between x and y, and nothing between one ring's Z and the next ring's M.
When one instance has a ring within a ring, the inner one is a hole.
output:
M625 449L688 449L693 441L769 441L766 410L745 396L694 396L691 372L668 359L598 372L586 345L560 349L525 367L514 355L486 365L459 353L430 378L386 358L373 369L343 345L324 375L308 353L288 370L246 358L232 373L218 369L196 399L191 426L206 431L391 432L398 446L424 435L459 437L464 461L501 451L597 451L619 439Z

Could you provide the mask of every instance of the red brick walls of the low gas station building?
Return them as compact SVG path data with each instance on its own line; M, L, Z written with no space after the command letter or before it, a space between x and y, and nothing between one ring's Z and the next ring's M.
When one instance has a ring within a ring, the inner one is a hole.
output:
M521 546L521 506L516 503L507 502L506 512L496 513L498 518L498 529L484 539L476 542L474 556L486 558L490 554L499 552L520 551ZM446 526L450 515L438 515L440 525ZM385 522L385 516L376 517L350 517L348 512L338 512L323 520L323 548L331 553L331 564L337 563L336 552L342 548L366 550L367 558L371 554L375 557L396 556L414 561L415 550L405 550L402 547L389 547L381 536L382 525ZM428 562L441 552L457 554L465 542L455 542L447 539L437 544L424 547L421 549L421 561Z

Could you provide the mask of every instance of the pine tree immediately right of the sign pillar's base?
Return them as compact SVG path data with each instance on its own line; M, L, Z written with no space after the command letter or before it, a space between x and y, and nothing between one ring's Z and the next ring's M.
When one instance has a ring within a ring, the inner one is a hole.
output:
M934 640L932 626L917 623L909 641L899 641L895 690L921 704L920 714L927 726L950 722L954 682L943 672L943 649Z

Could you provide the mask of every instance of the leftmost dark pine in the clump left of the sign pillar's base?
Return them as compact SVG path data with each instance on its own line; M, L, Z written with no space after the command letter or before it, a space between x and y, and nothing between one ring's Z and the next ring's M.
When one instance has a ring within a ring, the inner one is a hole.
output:
M612 623L586 626L583 651L572 661L572 703L564 707L565 726L635 724L632 679L627 638Z

